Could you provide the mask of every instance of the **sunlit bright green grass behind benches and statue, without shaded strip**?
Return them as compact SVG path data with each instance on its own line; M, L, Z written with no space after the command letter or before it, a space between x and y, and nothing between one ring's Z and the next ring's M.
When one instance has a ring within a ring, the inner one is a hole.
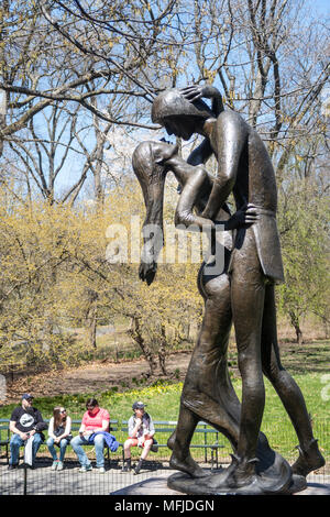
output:
M319 444L324 455L330 455L330 419L329 419L329 402L326 400L324 392L322 389L321 373L306 373L295 375L295 380L300 386L308 410L311 415L315 436L319 439ZM240 397L241 395L241 381L233 380L234 388ZM85 402L89 396L96 396L101 407L109 410L111 419L119 421L128 420L132 414L131 406L134 400L142 399L147 404L147 411L152 415L154 420L176 420L179 408L179 397L182 392L182 383L169 384L157 382L153 386L130 389L124 393L118 393L116 389L103 393L86 393L78 395L56 396L47 398L38 398L35 400L35 406L41 409L44 418L50 418L53 413L53 407L63 405L67 408L68 414L73 419L80 419L85 411ZM271 446L282 452L288 460L297 457L295 446L297 446L297 437L290 421L282 406L282 403L268 383L265 380L266 387L266 406L264 411L264 419L262 430L266 433ZM14 405L3 406L0 408L0 418L9 418ZM125 433L116 432L119 441L127 438ZM160 442L166 442L166 436L158 435ZM200 443L202 436L196 435L194 437L195 443ZM228 457L231 447L228 440L219 436L219 442L224 444L221 450L221 457ZM166 457L169 451L162 450L162 457ZM194 450L195 457L201 457L202 452Z

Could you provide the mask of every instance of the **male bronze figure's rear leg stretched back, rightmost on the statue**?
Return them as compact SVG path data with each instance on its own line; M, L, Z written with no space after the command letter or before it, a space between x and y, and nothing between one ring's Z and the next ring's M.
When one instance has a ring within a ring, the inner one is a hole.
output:
M264 374L276 389L289 415L299 440L299 459L293 465L294 473L307 475L324 464L308 416L304 395L294 378L282 366L277 343L276 306L274 286L267 285L262 326L262 364Z

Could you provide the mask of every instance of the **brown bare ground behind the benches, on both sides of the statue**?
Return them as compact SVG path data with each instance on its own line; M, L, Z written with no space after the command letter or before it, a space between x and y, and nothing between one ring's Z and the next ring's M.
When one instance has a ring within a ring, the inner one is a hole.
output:
M316 341L298 346L296 343L282 343L282 359L292 374L300 372L327 373L329 371L329 341ZM174 353L167 358L167 377L157 371L148 376L148 365L143 359L121 363L94 362L63 372L48 372L42 375L25 376L7 383L4 404L18 402L22 393L31 392L34 396L46 397L63 394L106 392L113 386L119 391L135 387L136 381L145 380L145 385L157 378L183 381L189 364L191 352ZM234 354L235 355L235 354ZM232 361L231 361L232 362ZM238 372L231 365L234 374ZM135 380L135 382L133 381ZM0 400L0 404L2 400Z

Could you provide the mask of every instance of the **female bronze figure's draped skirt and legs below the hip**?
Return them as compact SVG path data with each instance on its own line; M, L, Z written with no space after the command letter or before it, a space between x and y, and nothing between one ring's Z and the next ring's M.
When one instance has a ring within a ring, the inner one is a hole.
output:
M182 394L175 432L168 440L173 450L172 466L190 475L202 475L193 460L189 446L199 420L223 432L237 447L240 402L230 382L227 363L231 328L230 283L227 274L202 279L205 316L193 352Z

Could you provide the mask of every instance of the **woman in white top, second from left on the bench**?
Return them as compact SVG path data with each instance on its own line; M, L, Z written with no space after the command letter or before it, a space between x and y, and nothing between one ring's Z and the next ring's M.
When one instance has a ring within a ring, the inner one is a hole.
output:
M48 451L54 460L52 465L53 471L62 471L64 469L65 451L72 438L70 417L64 407L54 407L53 417L50 420L47 440ZM57 458L55 446L59 447L59 459Z

